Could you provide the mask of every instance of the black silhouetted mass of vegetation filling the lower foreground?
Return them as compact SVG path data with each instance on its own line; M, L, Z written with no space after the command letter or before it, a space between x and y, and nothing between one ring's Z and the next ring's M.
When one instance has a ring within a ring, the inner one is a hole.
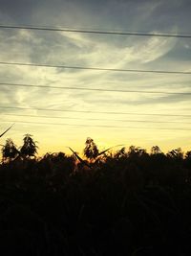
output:
M0 255L191 255L191 151L99 153L89 139L82 161L11 143L0 165Z

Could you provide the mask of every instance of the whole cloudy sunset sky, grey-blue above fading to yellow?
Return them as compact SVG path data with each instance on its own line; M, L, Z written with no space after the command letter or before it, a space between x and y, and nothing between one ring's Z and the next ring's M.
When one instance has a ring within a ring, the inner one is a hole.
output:
M190 12L189 0L0 0L0 25L191 35ZM0 28L0 62L191 72L191 38ZM0 143L11 138L19 147L30 133L39 154L81 152L87 137L100 150L188 151L190 81L189 74L0 64L0 132L14 123Z

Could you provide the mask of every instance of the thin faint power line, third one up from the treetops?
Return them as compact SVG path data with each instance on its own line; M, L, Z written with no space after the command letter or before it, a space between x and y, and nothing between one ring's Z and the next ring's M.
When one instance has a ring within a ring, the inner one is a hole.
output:
M93 111L93 110L75 110L75 109L53 109L40 107L22 107L22 106L6 106L0 105L3 109L22 109L22 110L39 110L39 111L53 111L53 112L74 112L87 114L111 114L111 115L138 115L138 116L167 116L167 117L191 117L185 114L159 114L159 113L133 113L133 112L116 112L116 111Z

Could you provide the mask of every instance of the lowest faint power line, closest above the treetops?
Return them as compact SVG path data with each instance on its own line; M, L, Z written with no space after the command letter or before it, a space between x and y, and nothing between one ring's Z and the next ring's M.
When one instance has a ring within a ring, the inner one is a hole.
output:
M8 123L10 121L1 121L4 123ZM120 127L120 126L98 126L98 125L82 125L82 124L64 124L64 123L46 123L46 122L31 122L31 121L11 121L17 124L32 124L32 125L48 125L48 126L69 126L69 127L83 127L83 128L133 128L133 129L167 129L167 130L191 130L191 128L138 128L138 127Z

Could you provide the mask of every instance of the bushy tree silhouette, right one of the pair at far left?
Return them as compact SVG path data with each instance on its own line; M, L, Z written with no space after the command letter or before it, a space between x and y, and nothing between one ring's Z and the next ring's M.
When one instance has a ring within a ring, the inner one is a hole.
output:
M21 147L21 154L23 156L26 156L26 157L30 157L30 156L34 156L35 153L37 153L37 146L36 146L36 142L34 142L32 140L32 135L31 134L25 134L24 135L24 144L23 146Z

